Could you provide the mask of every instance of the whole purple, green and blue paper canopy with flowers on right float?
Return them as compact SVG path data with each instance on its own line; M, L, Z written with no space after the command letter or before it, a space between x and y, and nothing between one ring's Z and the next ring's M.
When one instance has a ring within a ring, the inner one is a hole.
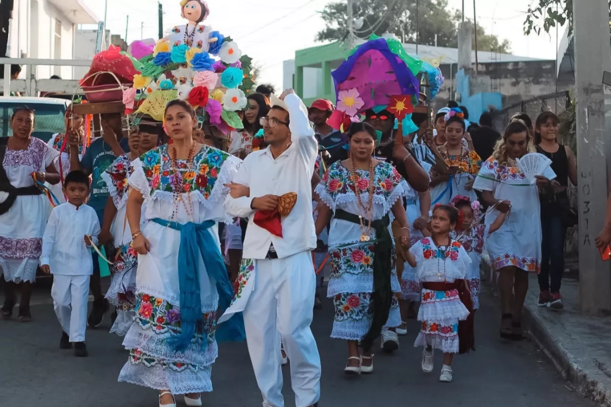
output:
M400 41L377 35L353 48L332 76L337 109L327 121L330 126L343 132L367 110L387 110L401 124L403 135L417 130L412 121L415 106L427 98L430 102L444 81L439 63L411 56ZM428 95L420 93L422 81Z

